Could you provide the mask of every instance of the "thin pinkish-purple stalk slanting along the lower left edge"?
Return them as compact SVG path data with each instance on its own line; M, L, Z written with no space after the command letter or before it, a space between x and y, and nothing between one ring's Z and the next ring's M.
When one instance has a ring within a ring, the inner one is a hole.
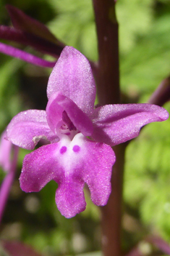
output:
M9 168L9 172L4 178L4 181L1 184L1 189L0 189L0 199L1 199L0 200L0 223L1 223L2 216L4 214L4 209L7 204L9 192L14 180L15 170L17 168L17 156L18 156L18 147L14 145L14 156Z

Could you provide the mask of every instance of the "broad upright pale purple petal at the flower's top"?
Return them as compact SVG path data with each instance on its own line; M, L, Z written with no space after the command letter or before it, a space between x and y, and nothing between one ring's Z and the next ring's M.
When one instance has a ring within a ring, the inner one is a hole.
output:
M64 48L49 77L48 99L58 91L73 100L88 115L93 112L95 81L90 63L73 47Z

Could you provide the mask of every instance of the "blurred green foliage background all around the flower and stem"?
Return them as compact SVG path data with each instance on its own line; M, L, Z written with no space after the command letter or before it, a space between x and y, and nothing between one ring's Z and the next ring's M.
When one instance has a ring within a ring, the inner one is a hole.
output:
M79 49L90 60L98 59L91 0L0 0L0 22L10 25L5 4L13 4L46 23L56 37ZM118 0L116 5L122 92L131 101L144 103L170 73L170 1ZM50 71L0 54L1 132L18 112L46 108ZM170 111L169 103L165 108ZM169 133L169 120L150 124L127 147L124 177L126 249L150 232L157 232L169 241ZM85 212L67 220L56 209L56 183L48 183L40 193L26 194L20 190L18 177L26 153L28 151L20 151L17 177L0 237L21 239L51 256L100 249L100 212L91 203L87 191ZM0 170L1 180L2 177Z

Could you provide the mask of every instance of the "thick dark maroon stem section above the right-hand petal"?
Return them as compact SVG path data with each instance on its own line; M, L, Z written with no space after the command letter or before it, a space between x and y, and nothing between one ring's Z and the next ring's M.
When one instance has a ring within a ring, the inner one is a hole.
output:
M118 24L113 0L93 0L98 35L98 100L120 103Z

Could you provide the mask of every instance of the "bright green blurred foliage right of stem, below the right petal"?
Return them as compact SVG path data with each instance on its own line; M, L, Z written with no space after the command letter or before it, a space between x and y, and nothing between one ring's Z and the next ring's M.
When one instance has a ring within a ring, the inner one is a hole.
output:
M170 104L165 108L170 111ZM124 199L138 209L148 231L170 241L170 121L149 124L129 143L124 175Z

